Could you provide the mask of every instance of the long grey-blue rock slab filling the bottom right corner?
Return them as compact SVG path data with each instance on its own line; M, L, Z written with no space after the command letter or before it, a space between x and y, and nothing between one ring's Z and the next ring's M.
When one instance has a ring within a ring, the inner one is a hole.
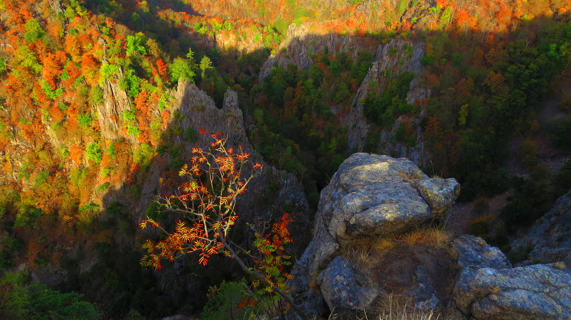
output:
M569 270L541 264L464 270L454 289L454 301L463 313L478 320L563 320L571 316Z

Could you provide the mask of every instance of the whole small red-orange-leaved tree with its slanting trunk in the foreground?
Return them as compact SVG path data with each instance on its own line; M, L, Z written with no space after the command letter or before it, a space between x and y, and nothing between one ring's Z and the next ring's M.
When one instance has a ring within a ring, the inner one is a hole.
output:
M204 129L200 129L199 132L207 133ZM266 259L268 255L275 258L272 253L275 250L260 251L263 258L257 260L259 267L249 268L236 254L231 246L232 242L228 239L230 228L238 219L234 211L236 199L246 192L248 183L262 172L262 165L256 163L252 166L250 177L242 177L243 170L249 162L249 154L242 150L242 146L236 150L236 153L234 149L227 148L226 139L220 138L222 135L220 132L207 134L210 134L214 142L207 151L199 147L192 148L192 153L195 154L192 157L192 165L184 165L179 171L179 176L187 180L180 185L178 194L167 196L166 192L161 190L157 200L163 212L176 212L192 221L192 224L187 225L186 221L179 220L174 232L169 233L163 229L168 234L165 240L158 242L147 240L143 243L142 247L146 249L147 255L140 260L140 263L154 269L162 269L162 259L175 261L186 253L198 252L199 263L206 265L210 256L222 253L238 262L246 273L259 279L255 282L255 287L266 285L266 290L278 293L301 318L306 319L304 312L284 292L283 269L276 269L276 262L268 262ZM162 183L162 179L159 182ZM288 223L287 216L278 222L275 232L281 233L276 235L277 238L273 239L271 245L280 248L283 243L291 241L287 233ZM142 221L140 227L144 229L148 225L160 228L160 223L149 217ZM279 228L280 226L285 226L286 231ZM266 240L257 241L256 243ZM264 244L259 244L259 250L263 249ZM283 247L279 250L278 253L282 252ZM278 274L275 274L276 270Z

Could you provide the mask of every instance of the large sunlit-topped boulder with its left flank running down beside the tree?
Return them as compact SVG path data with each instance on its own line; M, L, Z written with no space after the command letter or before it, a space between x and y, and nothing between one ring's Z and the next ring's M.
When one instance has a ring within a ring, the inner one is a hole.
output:
M320 305L321 294L315 288L315 281L321 270L339 269L339 261L332 260L339 255L341 245L359 236L404 233L417 224L440 218L445 206L452 204L459 192L455 179L429 179L406 158L351 155L321 191L315 235L292 272L290 286L296 298L307 310L320 314L325 306ZM321 277L317 285L334 287L325 283L332 278ZM328 305L332 301L335 300L329 299Z

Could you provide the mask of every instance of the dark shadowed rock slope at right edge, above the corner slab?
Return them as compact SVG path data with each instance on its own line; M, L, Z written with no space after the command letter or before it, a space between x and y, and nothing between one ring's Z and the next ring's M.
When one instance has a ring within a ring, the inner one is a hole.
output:
M521 265L556 261L571 265L571 194L561 196L553 208L533 224L528 234L513 241L514 248L533 245L528 260Z

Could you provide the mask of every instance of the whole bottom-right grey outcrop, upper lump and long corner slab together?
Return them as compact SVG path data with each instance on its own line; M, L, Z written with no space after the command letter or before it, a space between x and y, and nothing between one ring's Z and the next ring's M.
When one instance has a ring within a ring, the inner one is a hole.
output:
M465 315L477 320L571 316L571 271L560 264L512 268L498 248L475 236L460 236L453 246L463 268L453 300Z

